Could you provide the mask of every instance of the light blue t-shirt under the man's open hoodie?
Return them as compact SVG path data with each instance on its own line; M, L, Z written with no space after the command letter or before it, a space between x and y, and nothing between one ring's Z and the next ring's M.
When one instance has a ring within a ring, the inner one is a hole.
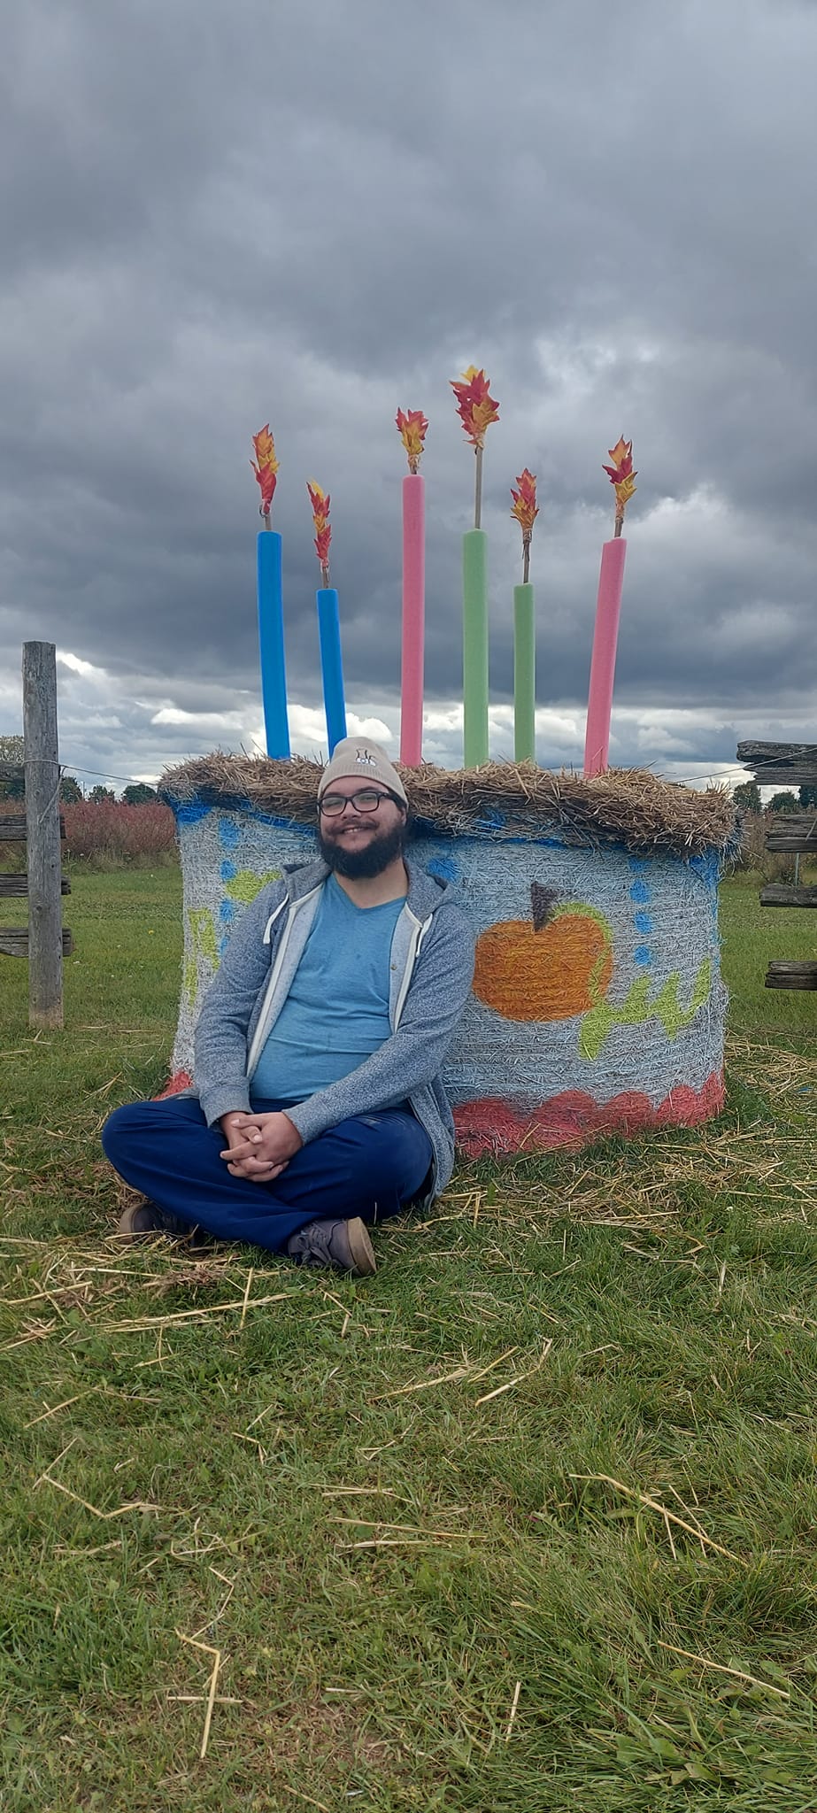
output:
M355 906L330 876L290 994L261 1052L252 1095L303 1102L391 1033L391 937L404 899Z

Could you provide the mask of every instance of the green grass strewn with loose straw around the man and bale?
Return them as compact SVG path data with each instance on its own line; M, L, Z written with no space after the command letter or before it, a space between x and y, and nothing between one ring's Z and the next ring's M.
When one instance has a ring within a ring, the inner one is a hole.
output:
M179 892L74 876L63 1033L0 959L4 1813L813 1813L812 916L723 890L719 1122L462 1168L360 1284L111 1236Z

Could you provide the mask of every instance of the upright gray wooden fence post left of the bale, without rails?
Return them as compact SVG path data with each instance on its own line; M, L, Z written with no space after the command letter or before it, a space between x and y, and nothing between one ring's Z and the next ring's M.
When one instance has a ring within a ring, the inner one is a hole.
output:
M60 760L56 647L24 642L29 1026L62 1026Z

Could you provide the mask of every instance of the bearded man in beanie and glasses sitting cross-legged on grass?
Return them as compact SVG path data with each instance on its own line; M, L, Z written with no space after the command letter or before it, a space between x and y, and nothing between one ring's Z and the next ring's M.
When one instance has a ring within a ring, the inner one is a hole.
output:
M196 1028L194 1090L118 1108L111 1164L149 1200L120 1233L252 1240L373 1273L366 1222L453 1168L440 1082L473 975L451 888L404 861L408 798L346 738L319 785L319 859L261 888Z

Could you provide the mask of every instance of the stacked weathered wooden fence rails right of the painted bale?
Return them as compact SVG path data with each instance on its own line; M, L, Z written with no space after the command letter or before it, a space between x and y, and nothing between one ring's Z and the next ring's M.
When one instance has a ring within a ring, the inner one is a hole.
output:
M737 760L759 787L817 787L817 743L737 743ZM772 819L766 850L817 856L817 809ZM770 883L761 888L761 906L817 906L817 887ZM766 988L817 990L817 963L770 963Z

